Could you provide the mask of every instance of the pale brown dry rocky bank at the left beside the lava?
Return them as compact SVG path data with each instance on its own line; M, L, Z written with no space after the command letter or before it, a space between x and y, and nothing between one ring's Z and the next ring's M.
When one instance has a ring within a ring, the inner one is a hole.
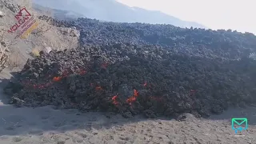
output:
M27 39L14 38L14 34L7 33L10 27L15 24L15 14L18 13L18 6L25 4L28 10L37 15L32 9L32 5L29 1L10 1L4 0L0 2L2 12L6 15L0 18L0 26L2 29L3 38L11 42L10 46L10 61L9 66L17 67L23 66L26 63L27 58L30 57L32 49L43 50L45 47L50 46L52 49L70 49L70 47L78 46L78 37L70 36L69 34L62 34L62 31L68 31L68 28L58 28L50 26L45 21L39 20L39 26L37 30L34 30L30 37Z

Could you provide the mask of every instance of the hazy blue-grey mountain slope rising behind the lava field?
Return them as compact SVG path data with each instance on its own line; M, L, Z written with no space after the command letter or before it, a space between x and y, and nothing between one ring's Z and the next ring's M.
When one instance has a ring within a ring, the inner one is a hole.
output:
M86 17L106 22L142 22L171 24L183 28L191 26L206 28L197 22L182 21L160 11L126 6L115 0L33 0L33 2L51 9L65 10L62 11L64 14L67 14L67 11L72 11L75 18ZM59 14L58 16L60 16Z

